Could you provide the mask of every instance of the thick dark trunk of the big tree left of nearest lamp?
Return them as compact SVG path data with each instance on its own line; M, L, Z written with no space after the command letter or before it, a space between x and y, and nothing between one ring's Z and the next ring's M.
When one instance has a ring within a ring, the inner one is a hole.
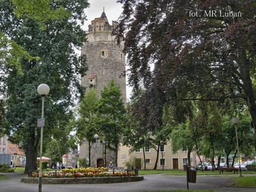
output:
M38 143L35 141L35 129L29 129L28 132L28 145L26 148L26 166L25 166L25 172L29 173L29 170L37 170L36 166L36 154L38 147Z

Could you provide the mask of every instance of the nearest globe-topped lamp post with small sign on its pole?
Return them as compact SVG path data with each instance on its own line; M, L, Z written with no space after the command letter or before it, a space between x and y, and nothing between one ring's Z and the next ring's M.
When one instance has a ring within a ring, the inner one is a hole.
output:
M38 191L42 191L42 153L43 153L43 129L44 129L44 97L48 95L50 88L47 84L40 84L37 87L37 92L42 96L42 118L38 119L37 127L41 127L40 137L40 168L39 168L39 180Z

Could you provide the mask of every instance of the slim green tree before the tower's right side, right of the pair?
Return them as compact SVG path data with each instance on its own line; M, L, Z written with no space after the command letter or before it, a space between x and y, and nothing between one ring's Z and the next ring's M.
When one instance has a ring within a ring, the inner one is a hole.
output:
M125 106L119 86L115 86L113 79L100 92L98 106L99 131L104 136L106 147L115 152L115 166L117 166L118 148L121 143L125 127Z

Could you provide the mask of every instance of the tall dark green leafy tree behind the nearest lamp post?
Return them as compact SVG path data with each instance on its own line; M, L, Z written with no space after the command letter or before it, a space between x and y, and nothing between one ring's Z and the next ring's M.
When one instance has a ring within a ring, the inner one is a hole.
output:
M15 6L7 0L1 1L1 31L36 57L28 60L21 56L20 70L6 63L6 133L26 152L25 172L36 168L40 140L36 119L40 118L42 106L37 86L46 83L51 89L45 97L44 138L63 138L63 142L67 141L67 122L72 117L70 106L83 95L79 74L83 76L86 67L74 47L81 46L85 38L77 19L85 19L88 2L50 1L50 6L53 10L63 7L70 17L45 20L42 28L28 14L17 18L13 13Z

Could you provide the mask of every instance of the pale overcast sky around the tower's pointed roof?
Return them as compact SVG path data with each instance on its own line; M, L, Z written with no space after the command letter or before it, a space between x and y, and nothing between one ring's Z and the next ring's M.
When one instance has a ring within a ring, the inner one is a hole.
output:
M90 8L85 10L87 19L84 22L83 29L88 31L88 25L91 24L91 21L97 17L100 17L101 13L106 13L109 24L112 24L112 20L118 20L118 17L122 13L122 4L116 3L116 0L89 0ZM127 81L127 79L126 79ZM126 97L129 99L131 94L131 88L126 86Z

